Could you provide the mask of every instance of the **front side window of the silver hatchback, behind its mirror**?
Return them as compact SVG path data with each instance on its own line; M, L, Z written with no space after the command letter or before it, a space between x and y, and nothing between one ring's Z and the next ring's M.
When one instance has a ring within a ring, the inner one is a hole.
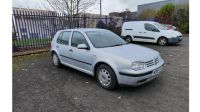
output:
M85 39L85 37L83 36L82 33L80 32L74 32L73 36L72 36L72 43L71 46L73 47L77 47L79 44L87 44L87 40Z

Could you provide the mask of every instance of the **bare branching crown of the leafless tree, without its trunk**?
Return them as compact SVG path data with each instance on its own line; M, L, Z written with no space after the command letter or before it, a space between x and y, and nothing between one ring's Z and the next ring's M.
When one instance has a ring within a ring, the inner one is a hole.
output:
M78 16L96 3L97 0L46 0L51 7L68 16Z

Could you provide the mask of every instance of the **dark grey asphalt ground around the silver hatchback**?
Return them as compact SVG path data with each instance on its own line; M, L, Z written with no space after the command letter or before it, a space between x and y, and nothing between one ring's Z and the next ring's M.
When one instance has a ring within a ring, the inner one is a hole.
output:
M158 50L164 71L139 87L108 91L68 67L52 65L42 53L13 59L13 112L188 112L189 38L179 45L136 43Z

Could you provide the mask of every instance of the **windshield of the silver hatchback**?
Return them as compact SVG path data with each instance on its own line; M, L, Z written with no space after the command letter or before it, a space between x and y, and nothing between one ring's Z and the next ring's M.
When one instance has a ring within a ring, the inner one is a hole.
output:
M114 47L126 44L118 35L107 30L85 32L93 46L96 48Z

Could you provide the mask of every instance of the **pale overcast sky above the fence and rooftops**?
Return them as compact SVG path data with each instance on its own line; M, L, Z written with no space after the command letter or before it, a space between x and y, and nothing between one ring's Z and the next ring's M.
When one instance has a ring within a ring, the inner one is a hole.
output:
M137 10L137 5L152 3L163 0L102 0L102 13L107 15L109 12L121 12L125 9ZM50 7L46 0L12 0L13 7L47 9ZM87 12L99 14L99 1Z

